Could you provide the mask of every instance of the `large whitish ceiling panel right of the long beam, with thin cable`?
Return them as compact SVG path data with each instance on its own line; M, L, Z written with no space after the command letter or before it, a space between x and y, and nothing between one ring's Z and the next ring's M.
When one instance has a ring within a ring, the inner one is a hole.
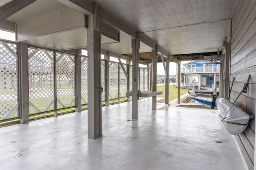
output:
M217 51L235 1L97 1L171 54Z

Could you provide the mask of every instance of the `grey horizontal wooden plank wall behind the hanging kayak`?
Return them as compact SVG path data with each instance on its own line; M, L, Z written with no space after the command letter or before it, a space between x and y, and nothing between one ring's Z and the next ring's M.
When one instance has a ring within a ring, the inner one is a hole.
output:
M231 35L230 80L235 77L235 81L230 93L230 101L236 100L250 75L248 93L242 93L235 105L239 106L241 102L246 102L247 112L255 118L256 1L236 2L232 16ZM235 136L249 170L254 168L254 137L254 119L250 119L249 125L243 133Z

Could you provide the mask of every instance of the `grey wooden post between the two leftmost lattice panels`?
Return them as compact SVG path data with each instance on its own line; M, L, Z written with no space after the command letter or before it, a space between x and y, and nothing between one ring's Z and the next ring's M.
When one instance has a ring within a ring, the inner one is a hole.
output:
M29 87L28 87L28 44L20 43L19 48L19 112L21 123L29 123Z

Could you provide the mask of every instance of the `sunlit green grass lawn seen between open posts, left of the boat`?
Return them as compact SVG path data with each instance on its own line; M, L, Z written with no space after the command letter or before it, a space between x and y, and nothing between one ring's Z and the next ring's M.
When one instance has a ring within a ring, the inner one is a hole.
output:
M157 91L163 92L162 95L158 95L158 98L165 98L165 85L163 86L157 86ZM187 93L189 90L188 89L180 89L180 96L183 94ZM174 100L178 98L178 88L175 88L173 85L169 85L169 101Z

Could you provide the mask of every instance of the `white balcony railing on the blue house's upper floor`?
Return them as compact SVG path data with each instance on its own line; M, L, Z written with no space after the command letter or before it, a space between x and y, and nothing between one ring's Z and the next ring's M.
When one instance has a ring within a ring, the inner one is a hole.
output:
M184 67L180 68L184 73L204 73L204 72L220 72L219 66L204 66L204 67Z

